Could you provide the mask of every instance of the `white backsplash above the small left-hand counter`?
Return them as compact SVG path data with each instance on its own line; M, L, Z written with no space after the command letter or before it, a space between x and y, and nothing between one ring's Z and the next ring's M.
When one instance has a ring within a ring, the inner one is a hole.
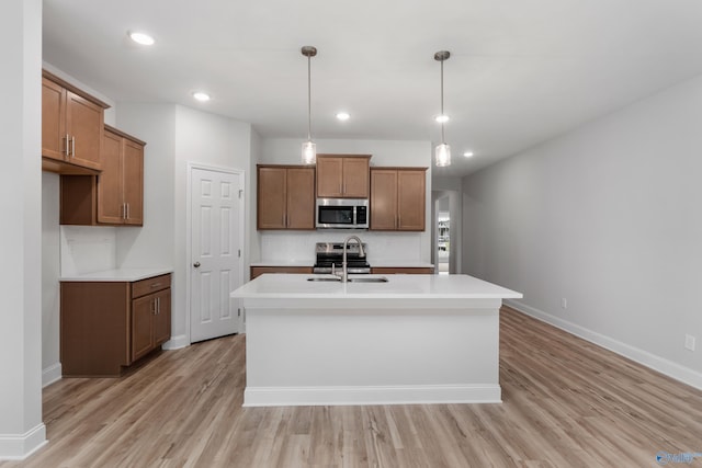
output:
M116 243L112 227L61 226L61 276L115 269Z

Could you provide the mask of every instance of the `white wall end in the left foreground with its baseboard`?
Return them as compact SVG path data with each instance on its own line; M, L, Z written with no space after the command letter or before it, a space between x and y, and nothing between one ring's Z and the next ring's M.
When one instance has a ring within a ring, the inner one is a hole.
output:
M46 441L42 423L42 2L0 4L0 458Z

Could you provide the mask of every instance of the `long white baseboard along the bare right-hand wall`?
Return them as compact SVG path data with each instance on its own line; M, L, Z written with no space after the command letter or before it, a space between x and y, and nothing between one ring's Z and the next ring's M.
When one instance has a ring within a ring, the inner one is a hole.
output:
M542 310L526 306L525 304L522 304L518 300L506 299L505 304L513 309L519 310L522 313L550 323L556 328L559 328L561 330L565 330L568 333L571 333L609 351L627 357L643 366L652 368L668 377L675 378L676 380L702 390L702 374L689 367L681 366L680 364L673 363L672 361L657 356L647 351L631 346L626 343L622 343L621 341L614 340L610 336L603 335L592 330L588 330L576 323L563 320Z

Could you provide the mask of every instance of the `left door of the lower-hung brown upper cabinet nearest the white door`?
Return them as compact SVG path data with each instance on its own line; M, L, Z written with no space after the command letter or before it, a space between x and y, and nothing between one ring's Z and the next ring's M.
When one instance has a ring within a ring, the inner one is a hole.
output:
M98 222L122 224L122 137L105 132L102 139L102 172L98 175Z

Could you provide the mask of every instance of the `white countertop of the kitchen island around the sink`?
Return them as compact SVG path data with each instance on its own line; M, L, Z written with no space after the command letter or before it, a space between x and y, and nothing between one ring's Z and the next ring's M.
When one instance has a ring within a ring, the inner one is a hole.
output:
M505 287L468 275L386 275L387 283L310 282L312 274L264 274L231 293L234 298L268 299L518 299ZM349 275L349 277L381 275Z

